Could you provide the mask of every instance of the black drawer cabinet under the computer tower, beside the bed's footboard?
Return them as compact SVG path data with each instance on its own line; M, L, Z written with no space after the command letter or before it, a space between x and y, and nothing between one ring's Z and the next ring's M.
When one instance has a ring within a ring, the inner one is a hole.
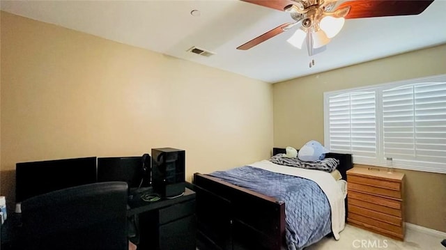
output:
M151 203L146 211L139 207L138 250L195 250L197 218L195 193L186 189L178 198Z

